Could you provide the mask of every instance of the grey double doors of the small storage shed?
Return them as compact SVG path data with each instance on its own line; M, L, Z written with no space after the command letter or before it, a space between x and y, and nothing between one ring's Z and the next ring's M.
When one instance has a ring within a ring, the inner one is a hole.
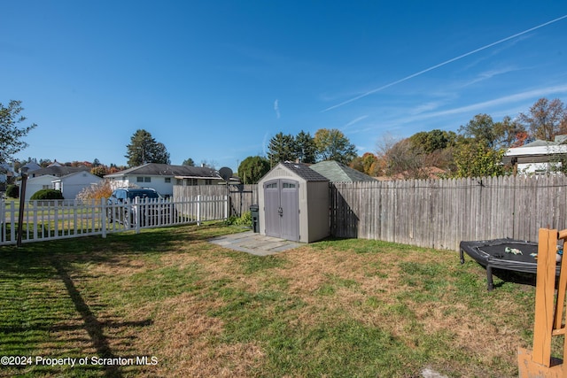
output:
M266 235L299 242L299 182L287 179L264 184Z

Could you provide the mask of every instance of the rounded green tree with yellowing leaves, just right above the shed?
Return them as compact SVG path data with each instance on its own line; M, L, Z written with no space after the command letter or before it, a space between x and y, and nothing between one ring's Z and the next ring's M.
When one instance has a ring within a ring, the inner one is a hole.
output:
M335 160L348 165L357 156L356 146L337 128L317 130L315 147L319 160Z

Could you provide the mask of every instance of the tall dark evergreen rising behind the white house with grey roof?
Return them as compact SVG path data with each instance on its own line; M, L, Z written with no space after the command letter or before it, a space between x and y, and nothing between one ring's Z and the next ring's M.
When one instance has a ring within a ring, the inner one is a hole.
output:
M127 145L128 166L141 166L145 163L170 164L169 153L163 143L156 142L146 130L137 130Z

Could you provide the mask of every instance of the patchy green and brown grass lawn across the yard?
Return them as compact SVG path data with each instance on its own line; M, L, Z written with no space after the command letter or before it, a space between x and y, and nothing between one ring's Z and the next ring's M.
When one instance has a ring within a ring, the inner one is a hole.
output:
M207 243L237 230L0 247L0 356L29 358L0 376L515 377L531 348L534 288L495 277L487 292L485 269L455 252Z

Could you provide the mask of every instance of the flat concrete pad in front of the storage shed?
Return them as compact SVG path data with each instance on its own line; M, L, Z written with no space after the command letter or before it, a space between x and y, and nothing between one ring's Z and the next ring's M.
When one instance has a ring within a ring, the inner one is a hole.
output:
M303 243L260 235L252 231L215 237L210 239L209 242L221 245L229 250L248 252L257 256L273 255L303 245Z

